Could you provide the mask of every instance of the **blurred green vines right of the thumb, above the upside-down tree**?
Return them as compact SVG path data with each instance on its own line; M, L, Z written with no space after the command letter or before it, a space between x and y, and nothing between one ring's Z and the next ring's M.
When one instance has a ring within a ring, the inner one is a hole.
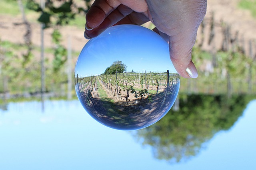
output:
M217 51L215 57L209 52L202 51L199 47L193 47L192 60L198 68L197 79L185 79L181 77L180 91L188 93L227 94L228 90L233 94L244 94L249 91L249 70L252 69L252 77L256 74L256 63L251 57L242 53L239 47L234 51ZM207 64L212 64L211 70L205 70ZM213 65L214 63L214 65ZM228 74L228 76L227 76ZM231 82L231 88L228 87ZM252 79L252 84L256 83ZM207 85L206 85L207 84ZM252 86L250 93L256 92Z

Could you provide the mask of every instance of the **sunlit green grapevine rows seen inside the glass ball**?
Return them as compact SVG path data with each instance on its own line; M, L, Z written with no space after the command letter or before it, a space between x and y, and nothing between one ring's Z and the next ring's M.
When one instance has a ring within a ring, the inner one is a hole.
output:
M135 98L148 98L152 100L152 95L157 95L159 90L164 90L172 84L177 83L177 74L170 74L169 71L163 73L122 73L122 74L102 74L98 76L102 86L112 93L113 96L124 98L128 104L130 94Z

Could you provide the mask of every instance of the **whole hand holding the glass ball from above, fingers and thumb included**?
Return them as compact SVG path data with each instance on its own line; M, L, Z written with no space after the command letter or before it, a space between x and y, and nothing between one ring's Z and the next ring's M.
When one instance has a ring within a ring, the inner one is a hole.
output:
M196 78L191 60L196 33L206 14L207 0L95 0L86 14L85 35L93 38L112 25L142 25L169 42L170 59L184 78Z

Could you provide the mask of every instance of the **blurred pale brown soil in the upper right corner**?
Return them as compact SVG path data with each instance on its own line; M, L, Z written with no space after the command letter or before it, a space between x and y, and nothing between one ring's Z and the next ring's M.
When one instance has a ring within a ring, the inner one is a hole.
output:
M253 18L248 10L242 10L238 8L238 2L240 0L208 0L207 12L205 16L206 28L205 28L205 42L203 49L210 50L208 46L208 39L210 35L210 25L207 23L210 21L212 13L214 13L215 21L215 38L214 44L216 50L220 49L223 39L222 25L223 23L230 26L230 32L234 36L238 33L238 44L244 47L246 55L249 55L249 40L256 40L256 18ZM200 40L200 28L198 30L197 41ZM254 48L255 49L255 48ZM256 51L254 51L256 53Z

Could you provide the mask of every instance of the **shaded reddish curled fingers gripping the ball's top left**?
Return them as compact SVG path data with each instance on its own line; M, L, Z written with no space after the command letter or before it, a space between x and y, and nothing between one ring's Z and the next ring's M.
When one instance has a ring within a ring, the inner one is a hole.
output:
M148 14L147 9L148 6L144 0L95 0L86 14L84 37L96 37L133 11Z

